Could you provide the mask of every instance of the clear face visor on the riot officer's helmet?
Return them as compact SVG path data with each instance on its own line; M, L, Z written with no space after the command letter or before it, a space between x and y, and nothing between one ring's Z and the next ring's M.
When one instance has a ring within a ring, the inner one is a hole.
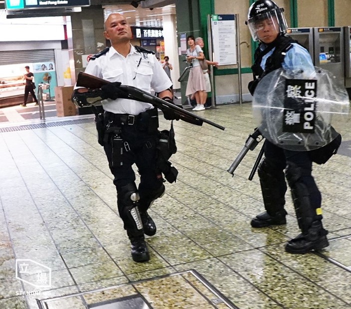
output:
M288 28L281 8L258 14L249 18L246 22L254 41L263 40L271 35L285 32Z

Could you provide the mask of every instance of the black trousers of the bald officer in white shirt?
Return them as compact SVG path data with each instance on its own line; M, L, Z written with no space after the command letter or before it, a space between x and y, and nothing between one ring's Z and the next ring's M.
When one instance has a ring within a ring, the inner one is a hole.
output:
M155 113L157 115L157 110ZM113 119L113 115L111 117L110 113L106 114L105 123L107 124ZM118 118L118 115L116 115L116 117ZM123 148L122 165L113 166L110 138L107 142L105 139L104 142L104 150L111 173L114 176L113 184L116 186L117 194L121 192L121 188L125 185L134 184L135 172L132 169L132 165L135 163L140 174L138 192L140 194L140 200L142 200L145 193L155 191L162 186L162 182L156 176L156 143L158 141L158 131L157 128L154 128L154 130L150 132L148 127L144 126L144 124L142 126L139 125L139 121L136 121L133 125L121 125L118 122L119 121L113 121L110 123L110 127L116 126L121 128L120 135L125 145ZM113 133L111 134L113 135ZM117 205L119 215L124 222L124 228L133 228L134 224L130 221L131 218L124 209L130 205L127 205L127 203L117 203Z

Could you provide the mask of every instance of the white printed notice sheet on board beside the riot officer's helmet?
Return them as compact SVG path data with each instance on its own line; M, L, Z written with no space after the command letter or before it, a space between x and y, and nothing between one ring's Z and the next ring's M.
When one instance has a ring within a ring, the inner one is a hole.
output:
M237 64L235 15L212 15L214 61L219 65Z

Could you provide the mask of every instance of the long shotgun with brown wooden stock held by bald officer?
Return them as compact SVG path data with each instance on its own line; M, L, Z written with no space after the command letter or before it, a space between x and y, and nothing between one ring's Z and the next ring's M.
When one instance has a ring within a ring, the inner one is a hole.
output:
M91 88L91 89L98 89L101 88L103 85L106 85L110 83L108 80L98 78L96 76L84 73L84 72L79 72L78 77L77 77L77 86L78 87L85 87L85 88ZM158 98L157 96L154 96L146 91L143 91L139 88L133 87L133 86L127 86L127 85L120 85L119 87L121 90L125 91L128 95L128 98L131 100L136 100L136 101L141 101L141 102L146 102L152 104L155 108L159 108L161 110L164 110L165 108L170 108L174 110L174 112L178 115L180 115L180 119L186 122L189 122L191 124L195 125L202 125L203 122L210 124L216 128L219 128L221 130L224 130L225 128L220 126L217 123L214 123L210 120L207 120L205 118L202 118L200 116L197 116L191 112L188 112L187 110L178 107L172 103L169 103L165 100L162 100Z

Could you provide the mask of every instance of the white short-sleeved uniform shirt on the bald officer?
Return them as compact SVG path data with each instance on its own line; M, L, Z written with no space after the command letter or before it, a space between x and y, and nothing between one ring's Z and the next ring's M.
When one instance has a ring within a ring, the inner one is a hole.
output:
M111 82L119 81L122 85L134 86L148 93L151 93L151 87L161 92L172 86L155 55L139 53L132 45L127 57L110 47L106 54L88 62L85 73ZM154 108L149 103L128 99L106 99L101 102L104 110L115 114L138 115Z

